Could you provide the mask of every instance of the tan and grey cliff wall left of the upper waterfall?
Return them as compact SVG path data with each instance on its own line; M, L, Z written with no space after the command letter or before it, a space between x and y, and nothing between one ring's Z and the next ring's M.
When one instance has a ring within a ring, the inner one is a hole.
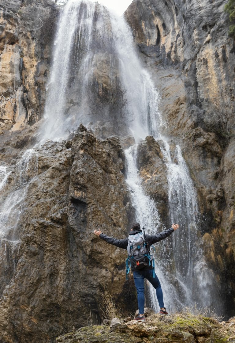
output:
M19 0L0 8L1 128L22 130L44 109L57 9L50 1Z

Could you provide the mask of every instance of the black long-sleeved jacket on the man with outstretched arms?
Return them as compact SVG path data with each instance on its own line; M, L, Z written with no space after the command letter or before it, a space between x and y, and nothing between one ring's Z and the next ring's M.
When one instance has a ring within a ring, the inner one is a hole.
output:
M140 232L139 230L135 230L135 231L132 231L131 233L129 233L129 235L135 235L139 232ZM157 243L160 240L170 236L173 232L174 232L174 229L171 227L170 229L162 231L156 235L145 235L145 241L147 243L147 253L149 253L149 250L150 250L152 244ZM103 233L100 234L99 237L101 239L105 240L107 243L115 245L118 248L127 249L128 237L123 238L123 239L116 239L113 237L109 237ZM152 269L152 265L144 268L144 270L148 270L148 269Z

